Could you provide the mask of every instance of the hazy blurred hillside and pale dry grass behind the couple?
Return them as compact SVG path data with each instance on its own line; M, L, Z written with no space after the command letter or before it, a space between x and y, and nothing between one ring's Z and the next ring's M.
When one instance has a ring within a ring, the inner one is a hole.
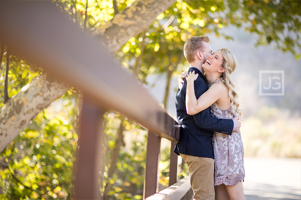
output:
M255 47L257 36L234 26L223 30L234 40L208 34L214 50L230 49L238 66L232 77L240 95L243 117L241 134L246 156L301 156L301 62L291 53L275 49L274 45ZM186 71L185 63L182 67ZM283 70L284 95L259 95L259 71ZM176 74L177 75L177 74ZM168 100L168 113L175 118L177 76L173 78ZM150 78L148 87L154 98L162 103L166 84L164 76Z

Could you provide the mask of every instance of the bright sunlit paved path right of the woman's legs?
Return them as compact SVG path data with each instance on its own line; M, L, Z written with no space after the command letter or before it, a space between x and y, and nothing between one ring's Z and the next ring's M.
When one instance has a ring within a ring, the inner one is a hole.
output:
M247 200L301 200L301 159L245 157Z

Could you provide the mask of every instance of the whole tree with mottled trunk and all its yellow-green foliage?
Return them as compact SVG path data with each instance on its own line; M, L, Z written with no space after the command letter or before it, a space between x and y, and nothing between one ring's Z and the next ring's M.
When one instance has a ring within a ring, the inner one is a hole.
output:
M299 1L139 0L133 2L120 0L116 1L116 5L113 1L115 7L111 1L55 1L54 3L57 3L62 12L65 12L71 21L77 23L89 36L104 40L109 51L115 53L124 67L128 68L142 84L147 84L148 74L166 74L168 82L173 74L183 70L185 59L183 59L182 47L187 36L215 32L217 36L230 39L231 36L221 32L228 24L242 26L247 31L258 34L260 37L258 45L276 43L277 48L283 51L289 50L297 58L300 52ZM131 5L127 6L128 4ZM2 152L0 176L9 187L1 185L3 181L0 183L0 188L19 191L18 194L24 193L30 198L70 198L71 194L68 193L72 193L72 175L69 171L72 171L72 161L75 156L65 155L64 152L70 151L70 154L73 154L72 149L76 147L77 135L70 135L68 131L76 133L79 111L74 107L79 103L73 101L78 100L76 96L78 92L69 89L70 85L56 82L54 77L40 68L26 63L22 58L17 58L14 52L7 53L8 50L2 41L0 46L2 61L0 91L1 95L7 92L10 98L4 104L4 99L7 98L0 96L0 151L16 138ZM5 68L8 69L8 73L4 72ZM6 74L8 74L8 81L4 83ZM167 83L163 100L165 107L168 91ZM63 114L63 117L53 117L53 114L49 114L51 112L45 109L61 96L63 97L60 101L65 102L64 106L73 105L67 109L71 113L69 118ZM113 118L118 120L113 121L109 115L113 115ZM106 140L109 144L107 154L110 160L104 166L104 171L108 172L108 168L111 169L110 175L104 177L105 181L111 179L115 182L113 181L112 184L108 182L110 185L104 182L103 187L107 186L106 195L111 198L133 198L126 193L133 194L131 192L133 189L129 189L128 184L135 185L138 189L143 184L141 173L132 176L132 172L143 171L142 158L145 143L135 141L131 150L139 156L133 157L131 153L125 151L122 138L124 131L142 128L125 119L124 116L119 116L118 113L107 114L106 121L108 122ZM119 132L118 128L120 128ZM117 132L119 137L116 137ZM57 138L56 141L46 138L47 135ZM46 157L44 158L43 155ZM117 161L116 157L118 157ZM140 163L131 167L137 161ZM64 166L55 166L59 162ZM55 167L46 167L44 163ZM61 172L62 167L69 169L66 170L67 174ZM113 173L117 169L118 176ZM26 170L29 173L25 173ZM39 172L43 172L42 176L37 175ZM57 172L64 174L62 177L65 177L65 181L60 179L61 177L56 177ZM131 176L126 177L125 173ZM28 179L23 178L28 174L30 175ZM45 188L43 184L50 186ZM122 195L114 196L117 193ZM18 198L18 196L7 195L6 198ZM135 198L139 199L139 195Z

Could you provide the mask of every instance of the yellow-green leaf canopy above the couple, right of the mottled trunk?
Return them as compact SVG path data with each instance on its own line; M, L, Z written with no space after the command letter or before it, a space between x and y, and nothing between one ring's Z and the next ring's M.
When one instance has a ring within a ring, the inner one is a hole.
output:
M150 28L131 38L117 55L124 66L133 74L138 74L142 83L146 83L147 74L161 74L168 70L179 74L184 70L178 65L185 65L181 57L188 36L214 32L217 37L233 39L222 31L222 28L233 24L256 33L259 36L256 45L272 44L274 41L276 48L290 51L299 59L300 6L300 1L178 0L161 13Z

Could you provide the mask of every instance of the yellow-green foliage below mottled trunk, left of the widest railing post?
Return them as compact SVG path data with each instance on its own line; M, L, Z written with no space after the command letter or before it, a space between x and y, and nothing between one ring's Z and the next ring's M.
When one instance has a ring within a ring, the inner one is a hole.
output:
M78 110L74 99L60 101L60 112L44 109L2 152L0 178L6 192L1 199L72 197Z

